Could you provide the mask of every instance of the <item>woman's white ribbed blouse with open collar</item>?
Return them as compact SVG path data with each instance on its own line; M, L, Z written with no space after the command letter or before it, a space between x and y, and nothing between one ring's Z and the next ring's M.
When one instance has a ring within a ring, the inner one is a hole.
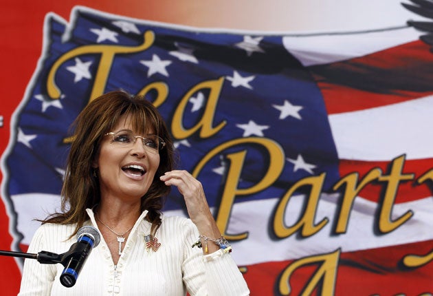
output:
M87 209L87 225L98 228L93 211ZM146 249L144 235L151 223L144 220L144 211L133 226L117 266L101 237L93 248L76 284L66 288L60 284L62 264L41 264L26 259L19 295L249 295L243 275L228 253L217 251L203 255L192 248L199 237L190 219L162 216L155 237L161 246L157 251ZM65 253L76 242L68 239L75 225L43 224L34 234L28 252Z

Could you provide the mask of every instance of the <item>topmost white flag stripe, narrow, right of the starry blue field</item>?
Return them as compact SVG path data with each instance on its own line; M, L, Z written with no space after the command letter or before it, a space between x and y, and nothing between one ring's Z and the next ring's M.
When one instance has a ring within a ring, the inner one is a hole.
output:
M413 28L359 34L285 36L282 43L302 65L346 61L419 39Z

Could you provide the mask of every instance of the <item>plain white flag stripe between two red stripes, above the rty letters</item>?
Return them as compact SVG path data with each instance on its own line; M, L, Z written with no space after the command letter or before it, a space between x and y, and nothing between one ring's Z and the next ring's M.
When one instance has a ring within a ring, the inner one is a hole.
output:
M432 158L433 96L329 116L338 158Z

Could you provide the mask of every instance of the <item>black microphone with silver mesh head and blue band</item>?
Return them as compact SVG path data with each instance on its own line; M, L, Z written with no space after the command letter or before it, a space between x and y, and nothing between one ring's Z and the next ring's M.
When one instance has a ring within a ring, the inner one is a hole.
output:
M98 246L100 234L93 226L83 226L78 229L77 242L71 246L69 251L63 254L63 269L60 275L60 283L70 288L74 286L82 266L85 264L91 250Z

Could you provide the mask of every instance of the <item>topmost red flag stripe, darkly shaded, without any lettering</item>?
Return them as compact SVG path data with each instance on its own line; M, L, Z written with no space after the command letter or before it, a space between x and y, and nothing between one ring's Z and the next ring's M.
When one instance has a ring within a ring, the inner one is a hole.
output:
M329 114L433 94L433 54L421 41L357 59L309 67Z

